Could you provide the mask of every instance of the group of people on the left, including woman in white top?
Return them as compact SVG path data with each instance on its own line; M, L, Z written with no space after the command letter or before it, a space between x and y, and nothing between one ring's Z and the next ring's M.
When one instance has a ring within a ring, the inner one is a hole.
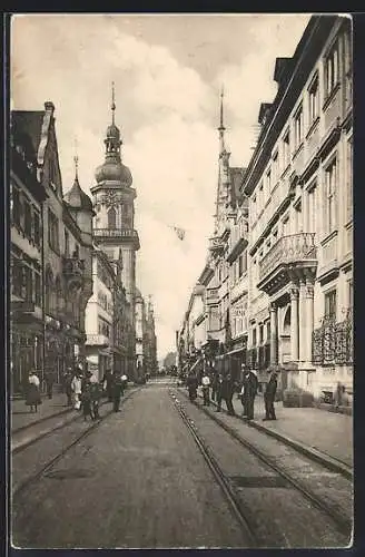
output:
M75 410L82 411L83 419L100 419L99 404L106 391L108 401L112 402L114 411L119 412L120 400L128 383L128 378L120 371L107 370L101 381L91 373L83 372L81 367L76 370L69 368L63 375L63 390L67 397L67 405L73 405ZM47 394L49 395L48 389ZM40 392L40 380L34 370L29 372L26 385L26 404L30 411L38 411L42 403Z

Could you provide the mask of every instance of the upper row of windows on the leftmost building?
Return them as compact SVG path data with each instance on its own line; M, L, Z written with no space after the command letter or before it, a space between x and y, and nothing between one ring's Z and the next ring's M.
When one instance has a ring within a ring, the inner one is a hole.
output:
M37 247L40 247L40 211L30 203L26 195L18 189L14 184L11 184L10 214L12 225L17 226Z

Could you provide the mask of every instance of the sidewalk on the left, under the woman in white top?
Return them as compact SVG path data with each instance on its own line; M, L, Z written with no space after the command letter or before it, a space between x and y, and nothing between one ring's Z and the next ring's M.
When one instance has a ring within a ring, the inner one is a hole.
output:
M42 403L38 407L38 411L30 412L23 399L12 400L10 402L11 431L14 432L51 416L69 412L72 410L72 407L67 407L66 402L67 398L65 393L55 393L51 399L42 397Z

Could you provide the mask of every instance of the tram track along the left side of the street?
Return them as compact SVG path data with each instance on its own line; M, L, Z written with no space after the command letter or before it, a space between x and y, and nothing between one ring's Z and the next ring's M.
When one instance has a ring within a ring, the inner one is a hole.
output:
M130 391L129 393L127 393L121 399L121 409L122 409L124 404L126 403L126 401L129 400L129 399L131 399L140 389L141 389L141 387L134 389L132 391ZM102 405L105 405L105 404L107 404L107 402L105 402ZM57 462L59 462L67 455L67 452L69 452L70 449L72 449L80 441L82 441L88 436L90 436L97 428L99 428L101 426L101 423L103 423L107 420L107 418L109 418L114 413L115 413L114 410L109 410L109 411L106 412L105 416L100 417L99 420L95 420L93 422L91 422L91 424L88 426L87 429L85 429L80 433L78 433L76 436L76 438L70 443L66 444L62 448L62 450L58 451L55 455L55 457L48 459L47 462L45 462L34 473L28 476L23 481L21 481L19 483L19 486L17 486L16 489L12 491L12 496L11 496L12 500L14 500L16 498L18 498L21 494L23 494L23 491L27 490L28 487L30 487L32 483L34 483L36 481L38 481L42 476L45 476L47 472L49 472L53 468L53 466ZM75 423L75 422L81 421L81 420L82 420L82 417L81 416L77 416L75 419L65 422L60 427L58 427L58 428L49 431L48 433L39 437L38 439L36 439L32 442L28 443L27 446L22 447L21 450L18 451L18 455L19 455L19 452L22 452L23 450L26 450L26 449L32 447L33 444L36 444L37 441L39 441L41 439L45 439L45 437L51 434L52 432L59 431L59 430L66 428L67 426L70 426L71 423ZM14 455L14 452L12 452L12 456L13 455Z

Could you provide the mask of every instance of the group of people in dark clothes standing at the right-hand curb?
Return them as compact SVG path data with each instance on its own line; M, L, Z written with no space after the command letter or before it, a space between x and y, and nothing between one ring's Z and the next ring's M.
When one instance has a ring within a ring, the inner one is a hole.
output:
M186 380L186 385L189 391L189 399L193 402L197 398L198 385L201 384L203 391L203 404L210 404L210 389L211 389L211 400L217 403L216 412L221 411L221 402L225 401L227 411L229 416L235 416L235 409L233 404L233 398L235 392L239 392L239 398L243 405L243 416L247 418L248 421L254 419L254 408L255 408L255 397L258 391L258 380L255 370L244 370L244 377L241 385L234 380L230 373L208 373L204 372L200 383L197 375L190 372ZM276 413L274 408L275 395L277 390L277 371L272 370L269 373L269 380L266 383L266 389L264 392L265 401L265 418L266 420L276 420Z

